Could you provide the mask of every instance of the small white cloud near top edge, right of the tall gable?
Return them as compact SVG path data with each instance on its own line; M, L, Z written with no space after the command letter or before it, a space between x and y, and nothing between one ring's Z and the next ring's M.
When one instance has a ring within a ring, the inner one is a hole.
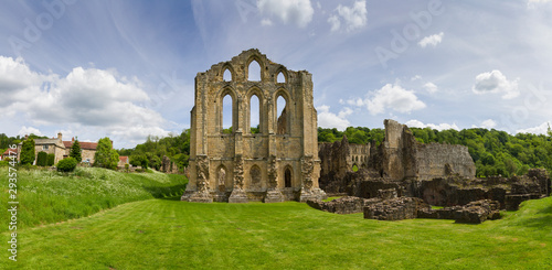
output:
M347 31L353 31L367 25L368 11L367 1L355 1L352 7L339 4L336 9L337 14L330 15L328 22L331 24L331 31L338 31L343 20Z

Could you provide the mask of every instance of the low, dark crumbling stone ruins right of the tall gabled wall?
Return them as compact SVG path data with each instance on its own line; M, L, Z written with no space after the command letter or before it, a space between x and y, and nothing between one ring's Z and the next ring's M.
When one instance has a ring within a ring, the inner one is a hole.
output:
M384 126L380 145L349 144L347 138L319 144L321 188L347 196L309 201L310 206L338 214L363 212L365 218L381 220L420 217L477 224L499 218L499 209L516 210L523 201L551 194L544 169L509 179L477 179L467 147L423 144L405 125L385 120Z

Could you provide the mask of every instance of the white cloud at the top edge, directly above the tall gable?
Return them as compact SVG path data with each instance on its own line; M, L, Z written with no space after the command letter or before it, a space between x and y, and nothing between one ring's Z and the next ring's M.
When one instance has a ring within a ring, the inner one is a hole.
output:
M284 23L299 28L307 26L315 13L309 0L258 0L257 8L263 14L277 17Z

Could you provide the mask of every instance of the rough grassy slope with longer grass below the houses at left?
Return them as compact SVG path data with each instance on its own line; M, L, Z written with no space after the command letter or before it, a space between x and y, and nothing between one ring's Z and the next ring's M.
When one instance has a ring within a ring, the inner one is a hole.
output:
M0 168L0 204L8 205L8 168ZM116 205L182 194L185 177L162 173L119 173L77 168L62 174L49 170L18 172L18 228L88 216ZM0 215L8 224L8 215ZM8 226L1 226L7 231Z

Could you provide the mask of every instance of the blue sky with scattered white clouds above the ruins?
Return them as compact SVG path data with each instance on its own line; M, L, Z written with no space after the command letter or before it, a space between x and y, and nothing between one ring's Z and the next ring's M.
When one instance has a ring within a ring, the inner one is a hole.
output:
M318 123L546 130L552 1L4 1L0 132L132 148L189 128L198 72L256 47Z

